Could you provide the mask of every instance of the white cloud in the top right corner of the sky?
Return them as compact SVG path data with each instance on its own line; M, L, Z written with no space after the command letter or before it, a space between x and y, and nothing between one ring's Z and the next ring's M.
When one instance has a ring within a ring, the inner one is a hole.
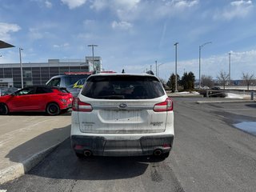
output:
M253 2L250 0L239 0L230 2L223 10L214 14L214 19L232 20L234 18L245 18L253 10Z

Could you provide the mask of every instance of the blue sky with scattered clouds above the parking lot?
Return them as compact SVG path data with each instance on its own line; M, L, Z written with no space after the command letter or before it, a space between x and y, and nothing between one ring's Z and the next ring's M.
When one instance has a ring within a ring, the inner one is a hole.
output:
M102 57L105 70L155 71L167 79L192 71L213 78L256 74L256 2L254 0L0 0L0 64L47 62L49 58Z

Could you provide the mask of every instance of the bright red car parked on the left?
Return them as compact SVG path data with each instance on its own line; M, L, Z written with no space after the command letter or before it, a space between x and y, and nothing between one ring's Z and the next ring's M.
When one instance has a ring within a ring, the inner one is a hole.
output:
M66 88L54 86L29 86L10 95L0 97L0 114L38 111L58 115L68 110L73 96Z

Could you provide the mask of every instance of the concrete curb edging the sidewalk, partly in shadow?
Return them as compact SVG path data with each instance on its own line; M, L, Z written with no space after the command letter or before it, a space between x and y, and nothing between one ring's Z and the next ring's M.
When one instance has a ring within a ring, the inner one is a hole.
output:
M17 165L7 167L4 170L0 170L0 184L5 182L10 182L15 178L26 174L30 171L34 166L37 166L39 162L42 162L42 159L45 158L48 154L50 154L53 150L55 150L61 142L54 146L50 146L46 150L42 150L37 154L33 154L30 158L27 158L23 162L18 162Z

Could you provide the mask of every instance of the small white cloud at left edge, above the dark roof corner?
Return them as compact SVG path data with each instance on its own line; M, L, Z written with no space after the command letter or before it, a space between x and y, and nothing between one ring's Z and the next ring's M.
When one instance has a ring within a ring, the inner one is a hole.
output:
M8 41L10 40L10 33L18 30L21 30L21 27L17 24L0 22L0 39Z

